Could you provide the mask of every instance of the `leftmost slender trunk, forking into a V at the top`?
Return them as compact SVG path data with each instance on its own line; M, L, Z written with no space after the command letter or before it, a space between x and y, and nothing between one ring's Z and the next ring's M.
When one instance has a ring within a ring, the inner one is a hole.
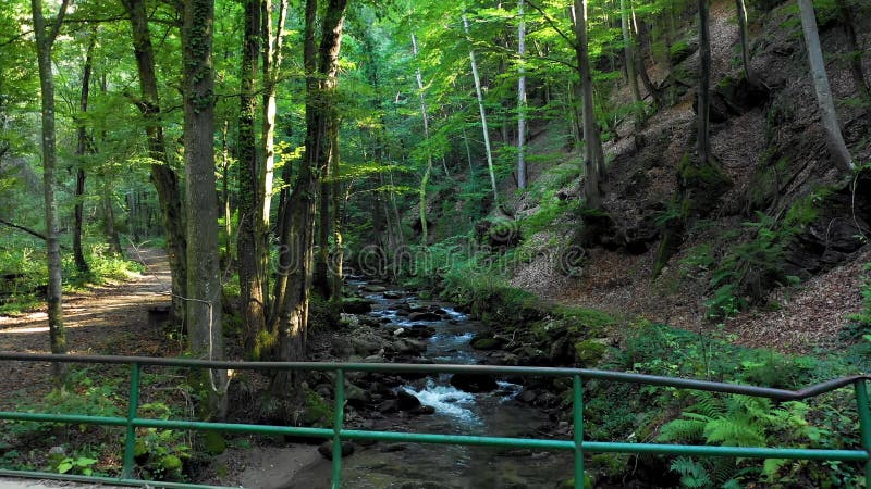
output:
M66 13L68 0L61 2L60 11L51 30L47 30L42 16L42 1L30 0L36 37L36 57L39 65L39 91L41 96L42 123L42 186L46 205L46 254L48 256L48 331L51 352L66 353L66 335L63 327L61 250L58 238L58 205L54 200L54 170L58 164L54 134L54 79L51 73L51 48ZM63 363L52 364L54 381L63 387L68 367Z

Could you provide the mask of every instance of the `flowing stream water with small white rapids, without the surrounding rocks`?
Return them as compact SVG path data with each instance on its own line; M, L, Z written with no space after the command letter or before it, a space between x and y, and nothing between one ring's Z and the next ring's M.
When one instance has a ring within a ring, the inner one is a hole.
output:
M361 283L352 285L360 286ZM384 293L367 293L375 302L371 316L390 319L385 327L408 327L412 322L397 315L398 306L438 305L446 317L426 322L436 328L427 339L424 359L432 363L474 364L482 353L469 341L484 329L443 302L417 300L401 290L401 299L387 299ZM392 294L390 294L392 296ZM414 323L420 324L420 322ZM432 415L409 416L389 414L370 422L367 429L416 431L443 435L487 435L519 438L540 438L538 431L549 425L541 411L514 400L520 386L500 381L493 392L468 393L452 387L450 375L432 376L409 381L400 387L417 397L424 405L436 409ZM342 461L343 487L370 488L554 488L572 478L571 454L526 449L499 449L417 443L378 442L357 447L355 453ZM300 471L286 486L320 489L330 487L329 461L322 460Z

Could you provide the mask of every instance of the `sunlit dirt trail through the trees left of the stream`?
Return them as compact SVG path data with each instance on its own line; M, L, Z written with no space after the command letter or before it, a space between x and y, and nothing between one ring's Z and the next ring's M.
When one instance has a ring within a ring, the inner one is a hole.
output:
M127 281L95 286L64 296L66 343L72 354L173 355L183 344L168 343L161 321L149 308L170 302L169 262L163 250L131 249L145 272ZM0 351L48 353L45 309L22 316L0 316ZM48 364L0 362L0 409L50 385ZM12 393L17 394L12 394ZM11 396L10 396L11 394Z

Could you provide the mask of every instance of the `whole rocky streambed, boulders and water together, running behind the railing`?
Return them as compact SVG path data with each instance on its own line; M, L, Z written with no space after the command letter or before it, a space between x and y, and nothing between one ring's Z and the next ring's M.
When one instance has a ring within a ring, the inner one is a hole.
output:
M512 353L481 343L488 328L452 304L422 300L387 285L351 281L360 298L346 304L341 336L320 355L352 362L516 364ZM540 409L542 396L516 378L469 375L346 375L346 426L358 429L519 438L569 438L571 427ZM314 389L332 396L330 379ZM544 397L545 398L545 397ZM326 413L324 413L326 414ZM330 487L324 455L286 488ZM349 488L554 488L572 478L567 453L417 443L346 442L343 486Z

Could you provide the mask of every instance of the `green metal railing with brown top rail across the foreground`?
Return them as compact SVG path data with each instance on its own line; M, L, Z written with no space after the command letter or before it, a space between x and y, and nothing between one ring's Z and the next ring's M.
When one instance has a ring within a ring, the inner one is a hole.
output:
M586 368L551 368L551 367L524 367L524 366L486 366L486 365L444 365L444 364L384 364L384 363L316 363L316 362L229 362L204 361L187 359L156 359L145 356L102 356L102 355L50 355L30 353L3 353L0 361L23 362L65 362L85 364L123 364L130 365L130 404L126 417L85 416L76 414L49 414L49 413L22 413L0 412L0 419L45 422L45 423L75 423L105 426L123 426L125 428L124 457L121 475L112 477L70 476L42 472L8 471L0 469L0 476L38 477L63 480L78 480L88 482L114 484L121 486L158 486L165 488L213 488L183 482L154 482L133 478L134 447L136 442L136 428L163 428L163 429L193 429L216 430L225 432L248 432L262 435L292 435L317 437L333 441L332 459L332 487L341 488L342 478L342 441L343 440L379 440L405 441L418 443L441 443L481 447L510 447L529 448L540 450L572 451L575 456L574 478L584 480L585 453L657 453L672 455L697 456L739 456L755 459L794 459L794 460L824 460L824 461L858 461L864 462L866 487L871 488L871 411L869 411L868 390L866 381L871 376L860 375L844 377L818 384L801 390L785 390L766 387L743 386L735 384L694 380L686 378L660 377L653 375L629 374L622 372L594 371ZM139 404L139 374L143 366L173 366L191 368L226 368L226 369L268 369L268 371L319 371L335 373L335 418L332 428L305 428L273 425L252 425L238 423L209 423L193 421L152 419L138 417ZM417 374L487 374L487 375L523 375L523 376L550 376L571 377L573 379L574 399L574 437L572 440L536 439L536 438L504 438L466 435L438 435L417 432L373 431L344 429L345 404L345 373L346 372L380 372L380 373L417 373ZM778 401L800 400L845 387L854 386L856 402L859 412L861 430L861 450L821 450L796 448L766 448L766 447L712 447L688 444L662 443L626 443L608 441L584 440L584 389L582 381L599 379L618 383L642 384L651 386L674 387L678 389L706 390L723 393L737 393Z

